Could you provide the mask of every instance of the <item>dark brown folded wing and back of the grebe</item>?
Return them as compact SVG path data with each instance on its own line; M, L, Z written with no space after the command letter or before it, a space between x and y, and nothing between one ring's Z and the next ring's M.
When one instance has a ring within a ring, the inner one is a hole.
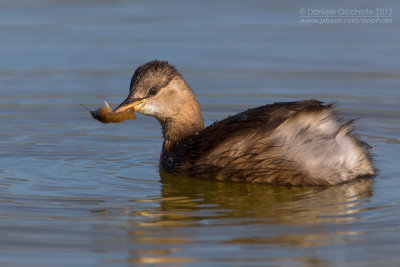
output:
M300 111L322 112L330 108L331 105L323 105L317 100L281 102L249 109L215 122L182 142L181 148L176 151L173 171L194 177L241 181L249 168L256 167L264 179L268 173L277 171L261 169L268 157L271 161L279 159L279 162L267 165L279 165L282 174L282 168L293 163L290 160L282 162L282 156L277 154L279 144L272 138L273 133ZM267 151L274 153L275 157L265 154ZM237 175L238 169L243 177ZM247 176L251 176L249 179L252 181L256 179L254 173Z

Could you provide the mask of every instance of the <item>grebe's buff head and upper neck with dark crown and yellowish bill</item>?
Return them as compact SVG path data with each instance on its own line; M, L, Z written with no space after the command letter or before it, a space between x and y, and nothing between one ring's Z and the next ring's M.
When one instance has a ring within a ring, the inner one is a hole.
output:
M115 111L132 107L158 119L166 140L176 141L204 128L196 97L178 70L167 61L153 60L137 68L128 97Z

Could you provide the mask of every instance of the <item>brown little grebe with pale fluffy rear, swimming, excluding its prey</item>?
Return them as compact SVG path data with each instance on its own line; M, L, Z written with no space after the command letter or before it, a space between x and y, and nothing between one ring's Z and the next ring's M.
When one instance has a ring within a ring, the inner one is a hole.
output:
M133 74L115 112L133 108L162 126L161 169L219 181L333 185L375 175L369 145L317 100L249 109L204 128L200 106L182 75L166 61Z

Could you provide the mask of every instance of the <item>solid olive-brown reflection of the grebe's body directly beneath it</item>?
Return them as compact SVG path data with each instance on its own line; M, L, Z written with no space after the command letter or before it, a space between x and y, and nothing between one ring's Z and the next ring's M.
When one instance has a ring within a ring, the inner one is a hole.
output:
M357 179L330 187L215 183L160 170L162 220L185 221L182 211L210 208L215 217L260 218L270 223L315 224L356 220L364 201L372 196L372 179ZM188 216L193 215L188 213ZM186 218L190 219L190 218ZM201 218L199 218L200 220ZM171 222L171 221L169 221Z

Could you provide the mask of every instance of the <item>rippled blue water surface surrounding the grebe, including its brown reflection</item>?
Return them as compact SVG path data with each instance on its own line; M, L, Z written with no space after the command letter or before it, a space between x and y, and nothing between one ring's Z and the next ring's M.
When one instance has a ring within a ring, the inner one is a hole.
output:
M302 24L300 8L391 8L381 24ZM1 266L395 266L400 262L398 1L0 2ZM160 174L161 128L104 125L152 59L207 124L318 98L359 118L379 175L329 188Z

